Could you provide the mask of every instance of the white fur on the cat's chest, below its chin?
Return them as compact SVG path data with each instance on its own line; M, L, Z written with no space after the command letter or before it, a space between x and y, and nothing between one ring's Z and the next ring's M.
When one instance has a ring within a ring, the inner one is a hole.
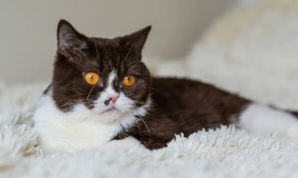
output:
M130 115L112 123L99 122L98 117L83 104L77 104L72 112L62 112L50 94L42 96L34 115L34 128L39 133L41 149L45 154L51 154L99 147L136 122Z

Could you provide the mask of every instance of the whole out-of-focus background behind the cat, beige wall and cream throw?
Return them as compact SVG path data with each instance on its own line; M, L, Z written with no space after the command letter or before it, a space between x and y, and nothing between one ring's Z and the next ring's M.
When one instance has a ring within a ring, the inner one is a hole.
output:
M298 108L298 0L0 0L0 87L50 80L61 18L108 38L152 25L153 75Z

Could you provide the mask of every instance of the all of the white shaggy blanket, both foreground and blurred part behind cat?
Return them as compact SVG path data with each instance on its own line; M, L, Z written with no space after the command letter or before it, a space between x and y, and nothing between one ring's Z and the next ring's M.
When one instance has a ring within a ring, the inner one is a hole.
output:
M156 75L188 76L262 102L298 108L295 16L297 0L239 6L194 45L187 63L151 60L149 67ZM0 178L298 177L297 143L274 134L257 136L232 125L199 131L189 138L177 135L156 151L94 148L43 157L35 147L37 133L31 117L47 85L0 83Z

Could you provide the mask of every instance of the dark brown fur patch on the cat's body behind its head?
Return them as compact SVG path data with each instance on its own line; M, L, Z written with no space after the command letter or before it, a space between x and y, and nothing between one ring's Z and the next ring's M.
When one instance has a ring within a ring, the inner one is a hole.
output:
M211 85L187 79L153 78L153 105L149 113L126 133L149 149L165 147L175 134L185 136L203 128L216 128L232 123L249 101ZM151 137L151 139L150 139Z

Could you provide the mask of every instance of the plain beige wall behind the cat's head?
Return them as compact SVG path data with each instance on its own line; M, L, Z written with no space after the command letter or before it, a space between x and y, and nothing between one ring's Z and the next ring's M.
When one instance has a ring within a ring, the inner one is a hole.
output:
M152 25L145 55L182 56L235 0L0 0L0 81L51 76L60 18L88 36L114 37ZM116 3L117 2L117 3Z

